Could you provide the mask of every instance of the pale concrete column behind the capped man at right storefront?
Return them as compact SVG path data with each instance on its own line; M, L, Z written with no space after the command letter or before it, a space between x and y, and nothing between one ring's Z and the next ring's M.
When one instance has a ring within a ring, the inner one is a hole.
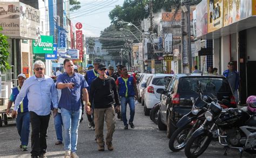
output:
M221 37L220 49L220 74L227 69L227 63L230 62L230 35Z

